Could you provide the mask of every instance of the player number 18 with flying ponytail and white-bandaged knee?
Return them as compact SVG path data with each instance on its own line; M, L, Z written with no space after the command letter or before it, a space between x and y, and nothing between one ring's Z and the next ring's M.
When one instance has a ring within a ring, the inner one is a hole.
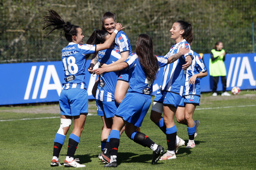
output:
M57 12L48 10L44 16L43 29L53 26L48 32L55 29L63 30L65 38L69 42L68 46L61 50L64 69L63 88L61 90L59 106L61 110L61 125L54 139L53 158L51 166L61 166L59 163L59 153L64 143L67 131L74 119L74 129L69 136L67 156L64 161L65 167L85 167L77 163L74 154L80 141L80 135L84 128L86 115L88 114L88 94L85 83L85 65L86 55L93 54L95 51L104 50L110 47L118 31L121 30L121 24L116 25L114 33L103 44L83 45L84 35L82 29L70 22L65 22Z

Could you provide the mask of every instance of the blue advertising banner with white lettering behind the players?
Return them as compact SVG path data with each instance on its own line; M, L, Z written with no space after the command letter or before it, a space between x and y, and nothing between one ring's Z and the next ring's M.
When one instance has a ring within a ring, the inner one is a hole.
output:
M203 55L205 67L209 68L210 54ZM90 60L86 63L87 69ZM241 90L256 89L256 54L226 54L227 90L239 86ZM59 101L62 88L63 66L61 61L0 64L1 98L0 105L22 103L41 103ZM208 70L207 70L208 71ZM159 89L163 68L153 85L153 94ZM87 74L88 98L92 96L92 87L97 77ZM219 81L218 91L222 90ZM201 92L212 91L211 78L201 78Z

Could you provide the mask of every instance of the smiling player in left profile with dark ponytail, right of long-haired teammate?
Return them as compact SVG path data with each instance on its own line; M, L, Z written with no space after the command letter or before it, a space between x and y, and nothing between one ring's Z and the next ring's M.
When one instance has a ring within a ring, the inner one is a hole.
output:
M185 21L176 21L172 25L171 39L175 40L170 51L165 57L170 57L179 52L181 46L186 46L190 50L190 44L193 41L192 25ZM163 103L164 118L156 121L159 127L163 128L165 124L167 140L167 152L160 158L160 160L174 159L175 155L175 139L177 134L176 125L174 123L174 116L179 105L183 89L185 86L186 69L192 63L192 53L189 51L183 55L182 58L177 59L174 63L164 67L164 74L161 81L160 92L158 99ZM155 99L156 100L156 99ZM164 127L165 128L165 127Z

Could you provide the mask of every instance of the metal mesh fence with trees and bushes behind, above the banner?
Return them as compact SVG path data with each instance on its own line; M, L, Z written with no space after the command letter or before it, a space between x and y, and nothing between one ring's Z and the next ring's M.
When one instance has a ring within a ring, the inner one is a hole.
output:
M0 63L60 60L60 51L67 41L62 37L55 42L61 31L45 36L47 31L42 30L41 23L47 9L79 25L84 42L94 29L100 28L102 14L111 11L117 22L125 26L133 50L139 34L147 33L153 39L156 54L165 55L175 43L169 33L172 24L184 20L193 25L195 39L191 48L198 53L209 53L216 41L222 41L228 53L255 52L255 0L3 0L0 2Z

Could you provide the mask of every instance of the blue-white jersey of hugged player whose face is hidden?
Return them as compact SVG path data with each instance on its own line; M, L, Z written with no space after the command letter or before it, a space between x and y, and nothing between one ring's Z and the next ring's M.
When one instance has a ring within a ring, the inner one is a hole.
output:
M121 58L119 50L106 49L98 52L99 63L111 64ZM99 84L95 98L100 101L115 100L115 86L118 78L118 71L103 73L99 75Z

